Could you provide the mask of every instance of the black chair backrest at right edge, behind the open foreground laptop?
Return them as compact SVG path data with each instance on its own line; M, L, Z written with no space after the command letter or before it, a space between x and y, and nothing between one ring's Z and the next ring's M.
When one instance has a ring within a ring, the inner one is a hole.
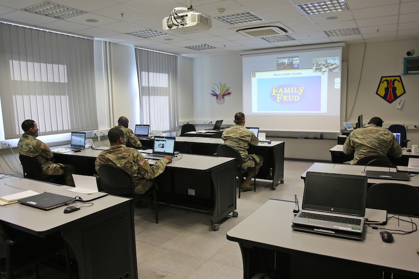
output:
M374 184L367 191L367 207L419 216L419 189L399 183Z

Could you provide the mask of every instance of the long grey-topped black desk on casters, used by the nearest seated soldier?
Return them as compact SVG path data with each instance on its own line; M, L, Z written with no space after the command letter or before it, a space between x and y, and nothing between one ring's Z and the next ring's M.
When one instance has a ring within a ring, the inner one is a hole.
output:
M54 153L54 157L59 162L74 165L77 172L91 176L96 173L94 161L101 151L85 149L76 153ZM155 178L159 186L157 200L212 214L214 230L219 229L219 222L229 214L237 217L235 159L192 154L180 156L180 160L175 157ZM154 162L149 160L151 165Z

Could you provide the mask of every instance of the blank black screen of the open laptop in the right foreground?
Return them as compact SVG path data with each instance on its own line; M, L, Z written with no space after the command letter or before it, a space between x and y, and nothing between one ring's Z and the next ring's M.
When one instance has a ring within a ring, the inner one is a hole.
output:
M302 208L364 217L367 182L366 176L308 171Z

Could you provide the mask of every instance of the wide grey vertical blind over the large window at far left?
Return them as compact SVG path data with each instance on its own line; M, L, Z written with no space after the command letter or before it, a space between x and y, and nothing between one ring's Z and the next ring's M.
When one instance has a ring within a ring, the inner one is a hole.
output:
M98 129L93 40L0 23L0 101L5 138L25 119L39 134Z

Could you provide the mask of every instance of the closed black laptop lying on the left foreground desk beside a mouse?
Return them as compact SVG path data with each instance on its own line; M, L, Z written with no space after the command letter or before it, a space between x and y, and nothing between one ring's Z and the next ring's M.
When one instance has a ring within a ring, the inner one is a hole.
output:
M21 204L36 207L42 210L52 210L53 208L66 205L74 197L62 196L54 193L44 192L39 195L19 199Z

